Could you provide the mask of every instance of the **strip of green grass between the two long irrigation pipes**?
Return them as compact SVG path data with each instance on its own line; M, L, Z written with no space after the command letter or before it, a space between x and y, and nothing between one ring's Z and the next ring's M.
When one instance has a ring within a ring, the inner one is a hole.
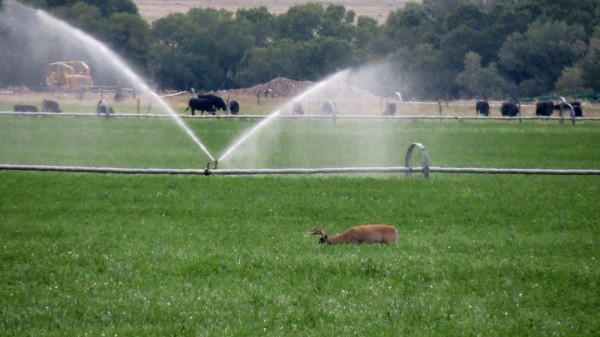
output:
M219 158L256 121L186 120ZM413 142L432 166L598 168L594 122L275 120L220 167L403 166ZM7 117L0 162L201 168L209 161L168 119Z

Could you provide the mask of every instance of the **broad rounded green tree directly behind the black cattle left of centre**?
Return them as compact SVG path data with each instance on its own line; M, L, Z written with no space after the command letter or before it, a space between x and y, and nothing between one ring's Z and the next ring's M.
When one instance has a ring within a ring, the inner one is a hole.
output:
M248 20L235 21L233 13L210 8L157 20L152 27L153 73L160 83L177 84L178 89L235 86L238 64L256 42L251 31ZM183 64L173 65L171 57Z

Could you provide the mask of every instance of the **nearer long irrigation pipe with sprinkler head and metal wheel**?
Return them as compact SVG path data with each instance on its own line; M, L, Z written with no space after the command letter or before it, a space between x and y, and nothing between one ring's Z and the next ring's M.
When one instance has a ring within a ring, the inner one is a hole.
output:
M415 149L422 158L422 166L411 167L410 161ZM281 168L281 169L218 169L216 162L209 162L206 169L168 169L168 168L116 168L90 166L57 165L15 165L0 164L5 171L50 171L73 173L114 173L114 174L172 174L172 175L311 175L311 174L357 174L357 173L423 173L425 179L430 173L467 173L467 174L524 174L524 175L600 175L600 169L538 169L538 168L480 168L480 167L430 167L429 154L420 143L408 147L404 158L405 166L393 167L336 167L336 168ZM212 168L211 168L212 166Z

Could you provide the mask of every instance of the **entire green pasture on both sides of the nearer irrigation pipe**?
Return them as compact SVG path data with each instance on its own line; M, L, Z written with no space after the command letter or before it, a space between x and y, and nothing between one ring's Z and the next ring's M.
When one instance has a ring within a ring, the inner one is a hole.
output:
M218 156L255 122L186 123ZM435 166L597 169L598 130L595 122L286 120L232 158L402 165L407 146L421 142ZM1 163L207 161L168 120L0 116L0 131ZM597 176L1 171L0 191L5 335L599 333ZM332 233L389 223L400 242L319 246L306 234L319 222Z

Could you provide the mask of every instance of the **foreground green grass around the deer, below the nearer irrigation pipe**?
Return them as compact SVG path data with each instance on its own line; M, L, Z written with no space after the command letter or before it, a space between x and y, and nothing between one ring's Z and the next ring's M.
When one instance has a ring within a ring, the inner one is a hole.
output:
M0 173L4 335L598 334L596 177ZM399 229L396 246L307 230Z

